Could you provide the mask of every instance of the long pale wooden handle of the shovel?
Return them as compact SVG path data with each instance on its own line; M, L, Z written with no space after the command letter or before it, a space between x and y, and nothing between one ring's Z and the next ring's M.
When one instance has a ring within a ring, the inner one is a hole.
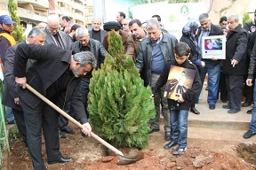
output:
M83 125L80 122L78 122L77 120L69 116L67 112L64 112L63 110L61 110L60 107L58 107L56 104L53 104L49 99L41 95L38 91L36 91L36 89L32 88L28 83L26 83L26 88L32 93L34 93L36 97L41 98L46 104L49 104L54 110L56 110L57 112L60 112L60 114L62 114L65 118L75 123L77 127L83 128ZM122 151L117 150L114 146L104 141L102 138L100 138L99 135L96 135L93 132L91 132L91 135L94 139L96 139L98 142L106 146L109 150L114 151L116 155L124 156Z

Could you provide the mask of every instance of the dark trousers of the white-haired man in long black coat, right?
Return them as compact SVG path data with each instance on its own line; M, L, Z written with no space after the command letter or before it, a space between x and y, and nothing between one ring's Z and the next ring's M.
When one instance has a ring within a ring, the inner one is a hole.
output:
M244 76L226 74L226 83L228 89L228 104L231 109L238 110L241 108Z

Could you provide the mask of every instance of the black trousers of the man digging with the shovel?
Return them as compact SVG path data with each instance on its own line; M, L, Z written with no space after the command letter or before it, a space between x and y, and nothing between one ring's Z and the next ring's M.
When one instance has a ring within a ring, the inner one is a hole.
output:
M58 134L58 118L60 114L43 101L31 108L22 99L20 105L24 112L27 130L28 151L35 170L45 170L42 158L41 132L44 131L44 140L48 161L60 159L60 139Z

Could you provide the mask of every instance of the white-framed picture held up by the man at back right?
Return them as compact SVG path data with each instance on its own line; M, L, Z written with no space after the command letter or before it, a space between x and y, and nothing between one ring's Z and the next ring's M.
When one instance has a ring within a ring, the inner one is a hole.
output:
M226 36L216 35L216 36L204 36L202 47L202 58L226 58Z

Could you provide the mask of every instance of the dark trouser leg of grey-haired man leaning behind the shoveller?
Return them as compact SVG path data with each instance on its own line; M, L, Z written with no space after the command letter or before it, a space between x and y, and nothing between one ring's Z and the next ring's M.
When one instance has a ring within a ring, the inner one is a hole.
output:
M26 133L26 124L24 119L23 111L16 110L12 108L12 112L14 115L14 119L16 121L17 128L19 130L20 137L22 138L23 142L27 146L27 133Z

